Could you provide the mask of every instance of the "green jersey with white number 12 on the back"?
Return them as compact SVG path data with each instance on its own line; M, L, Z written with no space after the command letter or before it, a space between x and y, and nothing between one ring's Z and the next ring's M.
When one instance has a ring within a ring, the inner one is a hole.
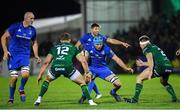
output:
M60 43L51 48L49 54L53 57L52 68L73 68L73 58L80 51L71 43Z

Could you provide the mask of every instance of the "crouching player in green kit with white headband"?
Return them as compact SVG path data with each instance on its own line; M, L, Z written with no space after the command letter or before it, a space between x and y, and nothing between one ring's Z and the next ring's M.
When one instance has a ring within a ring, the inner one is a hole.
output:
M142 60L138 59L136 64L137 66L147 66L147 68L137 76L134 97L124 98L124 100L128 103L137 103L143 88L143 82L145 80L150 80L151 78L160 77L160 82L171 95L172 102L176 102L176 94L173 87L168 83L169 75L172 72L171 62L159 47L150 42L148 36L141 36L139 38L139 44L143 54L147 58L147 62L143 62Z

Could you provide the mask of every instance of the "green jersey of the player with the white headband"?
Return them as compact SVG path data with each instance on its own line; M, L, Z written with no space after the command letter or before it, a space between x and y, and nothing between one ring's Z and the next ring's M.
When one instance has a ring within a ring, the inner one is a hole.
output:
M164 52L156 45L154 44L148 44L143 49L143 54L146 55L147 53L152 53L153 61L155 66L165 66L170 67L171 62L167 58L167 56L164 54Z

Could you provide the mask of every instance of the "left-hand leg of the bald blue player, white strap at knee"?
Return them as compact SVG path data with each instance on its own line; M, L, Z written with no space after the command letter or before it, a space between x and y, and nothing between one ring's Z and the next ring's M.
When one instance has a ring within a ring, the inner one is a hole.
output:
M10 71L10 84L9 84L9 104L13 104L14 102L14 93L16 90L16 82L18 78L18 71L11 70Z

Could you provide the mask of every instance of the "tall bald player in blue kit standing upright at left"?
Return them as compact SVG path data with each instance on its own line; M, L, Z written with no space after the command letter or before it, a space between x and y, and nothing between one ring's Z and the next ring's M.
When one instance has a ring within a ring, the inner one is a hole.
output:
M20 99L22 102L25 102L26 100L24 87L29 78L31 45L37 63L41 62L41 59L38 56L36 29L32 26L33 22L34 14L32 12L26 12L24 14L24 20L12 24L1 37L4 51L3 60L8 60L8 69L11 76L9 85L9 104L13 104L14 102L14 93L19 73L22 76L19 87Z

